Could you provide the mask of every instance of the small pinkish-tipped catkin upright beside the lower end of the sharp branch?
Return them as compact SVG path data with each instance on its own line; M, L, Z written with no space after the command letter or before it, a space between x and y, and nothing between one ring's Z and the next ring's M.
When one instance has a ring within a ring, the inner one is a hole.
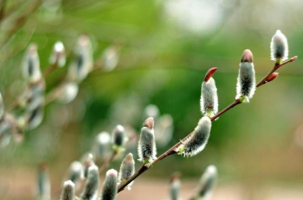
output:
M123 159L119 176L118 176L118 184L124 183L127 179L135 174L135 161L133 155L131 153L127 154L126 157ZM128 184L127 188L130 190L131 185L133 182Z

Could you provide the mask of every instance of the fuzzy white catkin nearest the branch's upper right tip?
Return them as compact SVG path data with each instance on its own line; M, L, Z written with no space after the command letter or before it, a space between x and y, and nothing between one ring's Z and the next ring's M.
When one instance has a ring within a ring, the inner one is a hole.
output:
M277 62L288 59L288 42L286 36L277 30L271 42L271 59Z

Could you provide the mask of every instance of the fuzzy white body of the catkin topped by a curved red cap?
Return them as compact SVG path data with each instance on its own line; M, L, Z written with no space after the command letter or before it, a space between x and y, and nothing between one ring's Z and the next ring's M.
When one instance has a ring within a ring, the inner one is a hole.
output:
M202 82L200 108L202 114L212 111L211 117L218 112L217 87L212 77L207 82Z

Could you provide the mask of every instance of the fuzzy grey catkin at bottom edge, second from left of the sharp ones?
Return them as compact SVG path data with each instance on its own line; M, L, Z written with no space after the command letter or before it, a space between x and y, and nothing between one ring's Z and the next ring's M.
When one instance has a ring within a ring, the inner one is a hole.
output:
M88 168L87 180L83 192L80 195L81 200L95 200L100 185L99 169L93 165Z

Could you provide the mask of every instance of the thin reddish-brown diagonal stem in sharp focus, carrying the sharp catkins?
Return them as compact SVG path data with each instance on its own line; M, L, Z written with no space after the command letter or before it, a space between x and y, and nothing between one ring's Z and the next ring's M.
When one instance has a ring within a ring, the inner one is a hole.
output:
M283 63L275 63L274 68L263 78L261 79L261 81L259 81L259 83L256 85L256 88L260 87L261 85L264 85L267 83L267 79L268 77L270 77L275 71L277 71L280 67L282 67L283 65L293 62L297 59L297 56L283 62ZM239 99L236 99L232 104L230 104L229 106L227 106L226 108L224 108L222 111L220 111L218 114L216 114L214 117L210 118L211 121L214 121L215 119L217 119L219 116L221 116L223 113L227 112L228 110L230 110L231 108L241 104L242 102ZM163 153L161 156L159 156L157 158L157 160L155 160L150 166L145 166L143 165L131 178L129 178L127 181L125 181L124 183L120 184L118 186L118 193L123 191L124 188L130 184L132 181L134 181L137 177L139 177L141 174L143 174L145 171L147 171L148 169L150 169L151 167L153 167L154 165L156 165L158 162L160 162L161 160L165 159L166 157L176 154L175 149L181 145L181 143L183 141L185 141L188 137L190 137L193 134L193 132L191 132L190 134L188 134L183 140L181 140L180 142L178 142L177 144L175 144L173 147L171 147L169 150L167 150L165 153Z

